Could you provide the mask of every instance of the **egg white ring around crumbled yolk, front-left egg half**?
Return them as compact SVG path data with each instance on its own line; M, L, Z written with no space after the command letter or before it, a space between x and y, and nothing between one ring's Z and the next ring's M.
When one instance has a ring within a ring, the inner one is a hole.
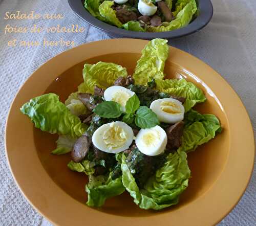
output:
M111 125L119 126L126 133L126 141L121 147L111 149L106 145L106 143L103 140L104 131L109 129ZM100 126L98 129L96 129L96 131L93 133L92 142L93 142L93 145L101 151L108 152L108 153L119 153L130 147L130 145L133 142L133 138L134 138L133 129L124 122L116 121L114 122L114 124L113 122L107 123Z

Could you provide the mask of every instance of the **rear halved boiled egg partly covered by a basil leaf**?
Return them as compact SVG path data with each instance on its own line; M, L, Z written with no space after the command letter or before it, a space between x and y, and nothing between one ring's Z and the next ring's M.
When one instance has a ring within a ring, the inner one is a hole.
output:
M123 86L114 85L107 88L104 92L104 99L106 101L115 101L119 103L122 107L122 111L125 111L125 104L130 97L132 97L135 93L130 91Z

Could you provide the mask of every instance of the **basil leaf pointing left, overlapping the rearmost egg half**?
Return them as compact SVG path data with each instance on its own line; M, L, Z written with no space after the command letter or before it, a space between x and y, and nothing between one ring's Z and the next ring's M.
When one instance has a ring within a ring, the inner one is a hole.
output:
M98 104L93 112L102 118L118 118L121 116L121 105L115 101L104 101Z

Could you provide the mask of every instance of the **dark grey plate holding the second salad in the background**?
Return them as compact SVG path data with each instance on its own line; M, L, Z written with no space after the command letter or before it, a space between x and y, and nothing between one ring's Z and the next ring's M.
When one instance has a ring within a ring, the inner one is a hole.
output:
M117 28L95 18L83 7L83 0L68 0L68 2L71 9L81 19L108 33L112 37L130 37L148 40L154 38L172 39L197 32L208 24L214 11L210 0L197 0L198 16L186 27L166 32L136 32Z

